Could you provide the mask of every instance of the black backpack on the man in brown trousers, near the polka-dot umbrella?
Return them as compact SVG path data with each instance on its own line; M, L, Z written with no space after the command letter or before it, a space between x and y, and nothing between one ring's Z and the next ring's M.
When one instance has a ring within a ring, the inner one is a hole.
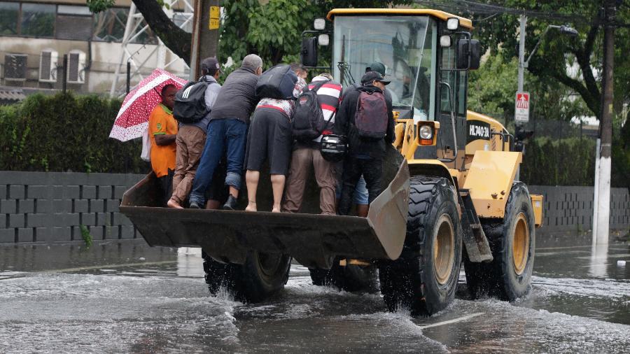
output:
M200 78L199 81L191 81L175 94L173 117L183 123L192 124L199 122L210 112L206 107L206 89L210 81Z

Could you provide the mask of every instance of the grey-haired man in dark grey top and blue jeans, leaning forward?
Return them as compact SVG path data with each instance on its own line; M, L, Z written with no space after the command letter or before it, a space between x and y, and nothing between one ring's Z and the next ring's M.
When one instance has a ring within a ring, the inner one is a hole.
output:
M190 208L204 205L206 190L223 155L226 155L228 162L225 185L230 188L223 209L234 210L236 207L241 189L249 116L258 103L256 83L261 73L262 59L250 54L243 58L241 67L225 79L210 113L206 145L193 181L193 191L190 192Z

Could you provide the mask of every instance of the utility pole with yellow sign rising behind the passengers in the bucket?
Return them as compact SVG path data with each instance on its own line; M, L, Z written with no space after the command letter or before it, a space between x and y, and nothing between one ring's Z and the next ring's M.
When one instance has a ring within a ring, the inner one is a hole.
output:
M201 76L201 61L218 53L220 7L218 0L195 1L193 42L190 50L190 80Z

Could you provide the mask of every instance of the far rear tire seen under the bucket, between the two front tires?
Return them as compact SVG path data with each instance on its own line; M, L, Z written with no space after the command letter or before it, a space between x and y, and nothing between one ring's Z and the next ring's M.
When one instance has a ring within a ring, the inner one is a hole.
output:
M350 292L377 292L379 289L378 269L373 264L361 267L358 265L339 266L339 260L331 269L310 269L314 285L332 286Z

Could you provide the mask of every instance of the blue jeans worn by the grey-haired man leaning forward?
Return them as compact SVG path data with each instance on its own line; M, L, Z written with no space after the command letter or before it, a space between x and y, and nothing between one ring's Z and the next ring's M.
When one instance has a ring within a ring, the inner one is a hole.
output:
M228 157L228 176L225 184L241 188L243 174L243 160L245 157L245 142L247 139L247 125L237 119L215 119L208 125L206 145L202 153L197 174L190 192L190 203L203 205L205 193L212 182L214 170L221 162L223 153Z

